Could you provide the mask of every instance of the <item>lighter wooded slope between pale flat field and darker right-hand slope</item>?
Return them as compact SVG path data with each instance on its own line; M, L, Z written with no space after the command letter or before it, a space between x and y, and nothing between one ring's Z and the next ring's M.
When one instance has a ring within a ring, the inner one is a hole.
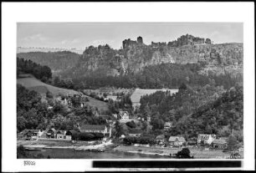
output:
M174 95L170 91L157 91L142 96L139 112L145 118L151 116L153 128L162 130L164 122L177 122L182 116L192 114L199 106L217 99L224 91L223 87L216 87L213 80L203 87L192 88L182 84Z

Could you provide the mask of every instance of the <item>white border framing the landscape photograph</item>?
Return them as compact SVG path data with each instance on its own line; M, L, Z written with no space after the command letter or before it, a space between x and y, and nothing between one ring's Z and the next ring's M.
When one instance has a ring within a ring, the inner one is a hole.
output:
M16 155L17 23L200 22L243 23L244 159L255 169L254 4L252 3L2 3L3 171L93 170L91 160L36 160L24 166Z

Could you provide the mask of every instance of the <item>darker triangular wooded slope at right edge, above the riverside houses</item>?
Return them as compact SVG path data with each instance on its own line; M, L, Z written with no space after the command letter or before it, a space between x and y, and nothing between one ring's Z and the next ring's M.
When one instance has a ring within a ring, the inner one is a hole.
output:
M197 134L234 135L243 140L243 87L236 85L218 99L203 104L192 114L183 116L173 126L173 135L184 134L187 138Z

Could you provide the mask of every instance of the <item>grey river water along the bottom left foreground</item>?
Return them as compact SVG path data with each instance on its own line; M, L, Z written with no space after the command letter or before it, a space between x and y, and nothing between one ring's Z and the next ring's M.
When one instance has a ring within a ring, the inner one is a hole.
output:
M76 151L73 149L43 149L42 151L30 150L29 154L44 155L47 158L48 155L51 159L170 159L170 157L159 155L145 155L137 153L125 153L114 150L105 150L105 152L95 151Z

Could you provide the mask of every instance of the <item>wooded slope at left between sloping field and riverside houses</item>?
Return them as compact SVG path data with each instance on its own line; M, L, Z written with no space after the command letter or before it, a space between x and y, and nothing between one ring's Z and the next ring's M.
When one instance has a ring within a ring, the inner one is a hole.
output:
M83 108L60 104L54 101L54 98L48 94L48 103L41 101L42 96L35 91L29 91L22 85L17 85L17 128L18 131L24 129L45 129L54 127L60 130L74 129L79 123L90 125L105 124L102 117L95 115L94 107L85 105ZM72 102L75 102L76 96L72 96ZM54 103L55 102L55 103ZM49 103L53 108L49 109Z

